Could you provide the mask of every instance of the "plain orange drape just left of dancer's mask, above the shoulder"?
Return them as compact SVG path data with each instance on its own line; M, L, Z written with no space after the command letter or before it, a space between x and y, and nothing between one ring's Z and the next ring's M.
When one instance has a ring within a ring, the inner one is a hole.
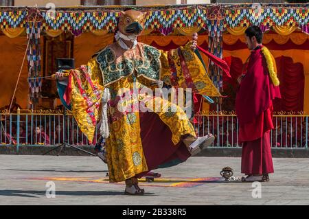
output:
M93 33L83 33L74 39L75 66L85 65L91 56L97 51L104 49L106 45L113 43L114 34L96 36Z

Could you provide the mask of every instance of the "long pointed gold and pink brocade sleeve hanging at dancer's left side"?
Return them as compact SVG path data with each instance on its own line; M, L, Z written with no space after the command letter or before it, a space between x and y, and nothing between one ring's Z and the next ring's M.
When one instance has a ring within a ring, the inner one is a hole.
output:
M71 106L73 117L90 142L100 119L103 91L102 73L95 58L69 72L65 101Z

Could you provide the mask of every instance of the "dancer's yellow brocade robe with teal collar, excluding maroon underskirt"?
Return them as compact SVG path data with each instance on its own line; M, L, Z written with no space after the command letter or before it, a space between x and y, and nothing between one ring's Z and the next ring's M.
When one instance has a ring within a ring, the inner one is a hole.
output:
M203 95L220 96L207 76L203 63L190 49L190 43L170 51L161 51L144 43L138 43L134 49L124 50L114 43L95 54L87 65L70 72L67 93L72 113L89 140L93 139L95 126L100 120L102 91L108 88L111 93L108 102L110 135L106 139L111 182L125 181L148 171L141 144L139 112L122 113L118 110L120 89L132 90L133 86L154 89L153 83L163 80L172 87L192 87ZM143 98L145 95L137 95L133 102ZM161 97L155 97L154 100L158 98L159 102L163 101ZM172 105L168 102L165 107ZM179 106L176 106L176 113L156 113L170 128L175 146L181 141L182 135L196 136L192 124Z

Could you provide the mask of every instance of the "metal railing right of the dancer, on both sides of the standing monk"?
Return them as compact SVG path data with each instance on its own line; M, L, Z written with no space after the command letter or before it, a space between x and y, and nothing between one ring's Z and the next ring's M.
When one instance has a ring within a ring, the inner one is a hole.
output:
M274 129L271 130L272 148L308 148L308 116L303 112L275 112ZM195 115L194 124L198 136L213 134L212 147L240 148L238 119L235 112L213 111L207 115Z

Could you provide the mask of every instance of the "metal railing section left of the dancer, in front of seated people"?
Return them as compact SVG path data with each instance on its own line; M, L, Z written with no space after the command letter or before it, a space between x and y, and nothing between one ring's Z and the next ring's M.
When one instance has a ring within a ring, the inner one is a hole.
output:
M16 145L17 151L21 145L90 144L69 112L19 110L16 113L8 113L8 111L2 111L0 118L0 145ZM95 131L93 144L98 137L98 131Z

